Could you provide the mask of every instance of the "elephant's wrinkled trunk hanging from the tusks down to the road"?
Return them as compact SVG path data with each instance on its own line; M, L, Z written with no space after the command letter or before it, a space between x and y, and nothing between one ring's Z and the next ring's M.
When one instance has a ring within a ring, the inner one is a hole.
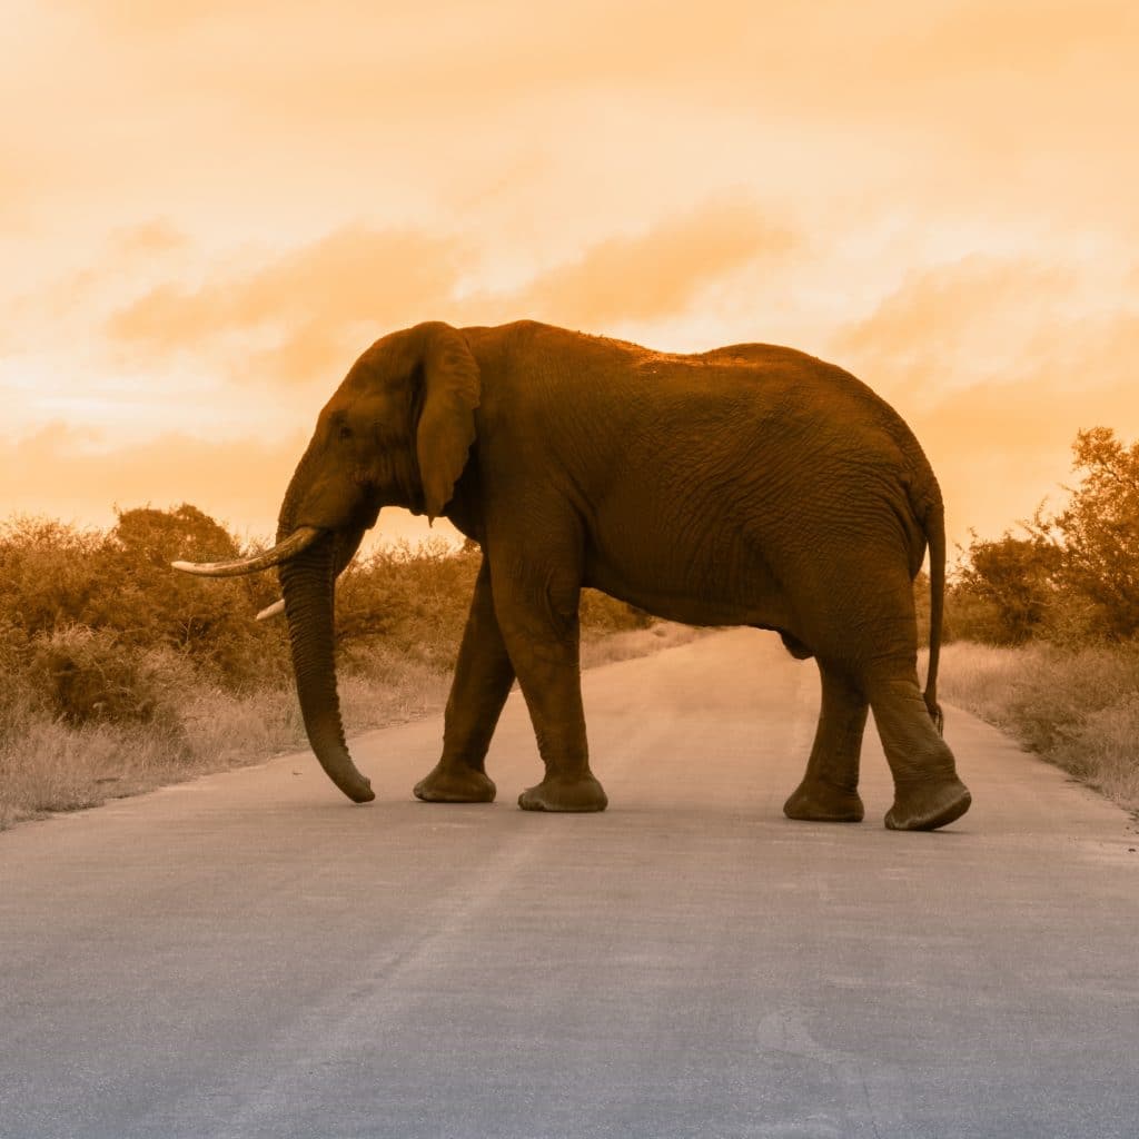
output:
M376 797L344 741L333 646L333 592L343 552L327 534L280 567L293 672L309 743L328 778L354 803ZM350 555L351 557L351 555ZM339 565L337 565L339 563Z

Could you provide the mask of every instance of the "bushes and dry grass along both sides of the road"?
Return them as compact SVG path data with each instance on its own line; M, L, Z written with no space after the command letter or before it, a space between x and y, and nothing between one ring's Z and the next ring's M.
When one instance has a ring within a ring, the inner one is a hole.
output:
M1139 811L1139 443L1073 444L1079 482L1019 533L976 535L947 598L941 693ZM0 524L0 829L306 746L272 574L203 581L174 558L255 552L192 506L108 531ZM350 731L443 707L476 548L384 548L337 589ZM917 584L928 621L928 582ZM696 636L587 590L583 664Z

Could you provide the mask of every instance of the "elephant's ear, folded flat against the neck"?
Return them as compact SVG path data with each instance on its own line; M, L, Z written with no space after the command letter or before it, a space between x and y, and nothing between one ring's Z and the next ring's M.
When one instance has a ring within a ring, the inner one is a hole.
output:
M450 325L420 326L424 333L423 411L416 457L429 519L437 518L454 493L475 441L475 408L482 388L478 364L466 339Z

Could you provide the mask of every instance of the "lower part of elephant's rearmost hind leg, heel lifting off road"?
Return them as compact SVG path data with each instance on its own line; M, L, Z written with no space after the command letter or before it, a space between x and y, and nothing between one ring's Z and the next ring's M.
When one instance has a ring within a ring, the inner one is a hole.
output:
M874 719L894 776L891 830L936 830L959 819L973 802L957 777L953 753L937 734L917 677L870 686Z

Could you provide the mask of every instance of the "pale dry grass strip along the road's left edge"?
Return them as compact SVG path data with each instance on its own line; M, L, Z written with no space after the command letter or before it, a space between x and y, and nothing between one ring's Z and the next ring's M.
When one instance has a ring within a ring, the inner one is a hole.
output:
M698 634L667 623L587 632L582 663L593 667L647 656ZM441 712L450 680L450 670L395 652L375 653L366 672L341 678L345 727L358 734ZM198 687L178 702L175 718L150 723L75 727L26 716L0 728L0 830L308 746L290 688L237 696Z

